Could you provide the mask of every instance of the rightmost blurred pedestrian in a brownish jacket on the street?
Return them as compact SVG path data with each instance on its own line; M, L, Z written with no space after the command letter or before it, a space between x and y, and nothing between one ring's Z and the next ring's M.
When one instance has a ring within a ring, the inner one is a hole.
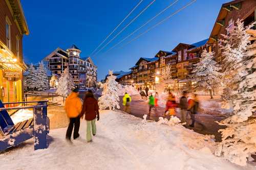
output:
M199 101L197 98L197 94L193 94L193 98L188 100L188 108L187 110L189 111L192 123L189 125L190 127L195 127L195 115L197 114L198 106L199 106Z

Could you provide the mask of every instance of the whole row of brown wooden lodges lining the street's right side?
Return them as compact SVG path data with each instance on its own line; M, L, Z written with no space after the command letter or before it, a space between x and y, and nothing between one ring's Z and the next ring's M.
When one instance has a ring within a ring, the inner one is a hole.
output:
M145 87L155 89L155 75L162 74L166 65L171 65L172 82L182 87L189 80L189 75L200 61L204 49L215 52L216 62L223 64L221 57L221 34L228 34L236 25L237 19L244 21L244 25L256 21L256 1L236 0L222 5L209 38L193 44L179 43L172 51L160 50L154 58L140 58L131 72L118 75L117 81L123 85L134 85L136 88ZM253 28L252 28L253 29ZM254 26L256 29L256 26Z

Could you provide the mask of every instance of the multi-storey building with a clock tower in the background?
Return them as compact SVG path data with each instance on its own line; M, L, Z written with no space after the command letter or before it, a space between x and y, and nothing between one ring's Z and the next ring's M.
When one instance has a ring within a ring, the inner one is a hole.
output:
M72 45L66 51L57 48L44 61L48 69L59 78L65 68L69 67L74 84L79 88L94 87L97 83L97 66L90 57L81 58L81 50Z

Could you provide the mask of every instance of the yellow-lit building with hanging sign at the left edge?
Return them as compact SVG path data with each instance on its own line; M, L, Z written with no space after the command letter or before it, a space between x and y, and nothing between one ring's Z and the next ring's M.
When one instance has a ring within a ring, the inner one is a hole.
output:
M19 0L0 1L0 100L23 101L23 36L29 34Z

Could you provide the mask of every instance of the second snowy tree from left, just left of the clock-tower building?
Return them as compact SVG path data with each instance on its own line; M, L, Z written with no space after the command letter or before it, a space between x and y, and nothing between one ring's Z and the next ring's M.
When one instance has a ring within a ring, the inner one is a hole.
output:
M49 79L47 77L47 71L42 62L39 62L39 66L36 69L36 78L38 80L36 83L37 90L42 91L49 89Z

